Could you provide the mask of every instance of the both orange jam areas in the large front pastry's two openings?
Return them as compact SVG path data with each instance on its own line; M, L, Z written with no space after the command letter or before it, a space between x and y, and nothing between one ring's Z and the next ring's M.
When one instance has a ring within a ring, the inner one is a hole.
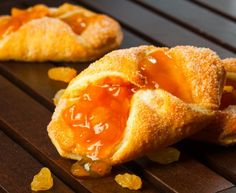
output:
M160 87L190 101L190 92L183 88L184 77L176 71L174 62L163 51L145 57L139 70L141 78L145 80L143 88ZM123 137L130 99L135 91L137 87L119 78L106 78L80 91L78 102L64 111L63 118L73 130L81 154L84 153L85 157L109 158Z

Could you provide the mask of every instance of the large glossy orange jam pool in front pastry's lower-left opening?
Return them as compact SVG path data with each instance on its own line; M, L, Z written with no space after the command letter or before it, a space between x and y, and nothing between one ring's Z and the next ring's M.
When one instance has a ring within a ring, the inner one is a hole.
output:
M133 86L106 78L81 91L78 102L63 113L84 156L108 158L123 136Z

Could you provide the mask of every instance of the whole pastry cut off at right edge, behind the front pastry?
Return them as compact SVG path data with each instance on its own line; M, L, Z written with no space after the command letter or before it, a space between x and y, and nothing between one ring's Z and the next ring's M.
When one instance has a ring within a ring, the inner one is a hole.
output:
M193 138L206 142L233 145L236 143L236 58L222 60L226 81L215 118Z

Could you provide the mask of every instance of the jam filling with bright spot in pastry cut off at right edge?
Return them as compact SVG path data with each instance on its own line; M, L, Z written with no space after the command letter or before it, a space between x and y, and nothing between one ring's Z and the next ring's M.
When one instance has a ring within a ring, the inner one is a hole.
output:
M228 76L229 74L230 76ZM236 73L232 72L227 73L220 109L223 110L229 105L236 105Z

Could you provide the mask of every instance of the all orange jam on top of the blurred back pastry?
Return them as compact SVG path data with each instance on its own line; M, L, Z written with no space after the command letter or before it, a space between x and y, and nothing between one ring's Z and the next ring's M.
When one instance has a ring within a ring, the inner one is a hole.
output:
M63 5L61 7L63 8ZM58 9L60 9L60 7ZM17 31L25 23L46 16L55 18L58 17L59 19L67 23L76 34L81 34L87 27L88 23L91 22L94 17L87 17L75 11L73 14L68 14L67 16L66 14L64 15L65 16L61 18L60 15L53 16L50 9L44 5L36 5L26 10L13 8L11 10L11 17L7 17L0 21L0 38L3 37L3 35L8 35L12 32Z

